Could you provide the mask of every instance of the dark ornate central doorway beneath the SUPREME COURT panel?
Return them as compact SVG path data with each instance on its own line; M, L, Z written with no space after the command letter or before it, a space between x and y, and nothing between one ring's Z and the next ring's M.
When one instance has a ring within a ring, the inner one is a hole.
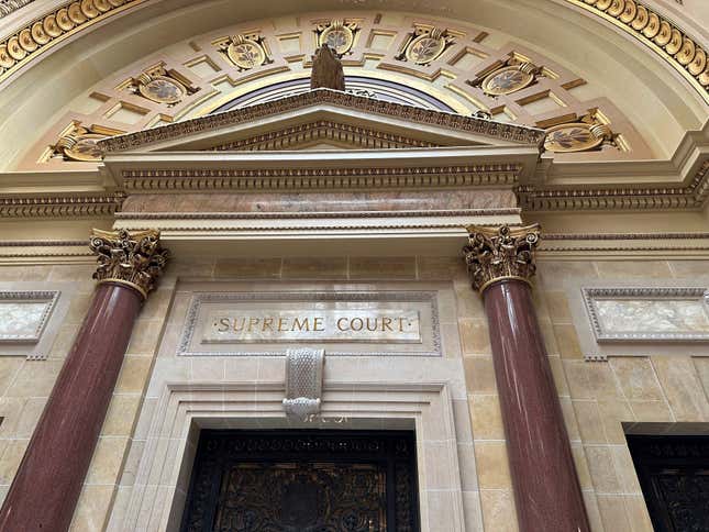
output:
M202 431L182 532L416 532L411 432Z

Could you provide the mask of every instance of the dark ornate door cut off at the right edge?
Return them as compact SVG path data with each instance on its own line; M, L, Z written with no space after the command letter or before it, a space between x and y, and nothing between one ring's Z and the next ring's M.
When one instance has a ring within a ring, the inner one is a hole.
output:
M655 532L709 532L709 436L629 435Z

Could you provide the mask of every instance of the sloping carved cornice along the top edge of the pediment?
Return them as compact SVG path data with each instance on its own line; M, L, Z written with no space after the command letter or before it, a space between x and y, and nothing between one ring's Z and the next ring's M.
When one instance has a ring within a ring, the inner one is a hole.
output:
M317 104L332 104L346 110L362 111L395 119L405 119L413 124L447 128L465 133L475 133L490 138L500 138L521 144L541 146L545 132L536 128L496 122L478 117L433 111L384 100L355 96L331 89L314 89L278 100L234 109L171 124L104 138L98 143L104 153L134 151L158 142L186 138L188 135L210 132L235 124L250 123L267 117L302 110Z

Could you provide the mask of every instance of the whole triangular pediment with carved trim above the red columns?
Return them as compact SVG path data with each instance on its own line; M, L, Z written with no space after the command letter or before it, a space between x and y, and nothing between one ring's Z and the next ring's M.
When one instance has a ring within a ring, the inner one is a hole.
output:
M253 152L539 146L543 131L317 89L101 141L122 152Z

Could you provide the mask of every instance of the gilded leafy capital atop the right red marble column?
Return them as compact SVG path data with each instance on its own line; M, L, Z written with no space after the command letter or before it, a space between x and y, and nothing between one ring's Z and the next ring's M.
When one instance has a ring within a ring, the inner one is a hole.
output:
M463 247L473 288L480 293L501 279L529 282L536 269L534 251L540 239L538 223L523 228L505 224L497 229L468 225L468 245Z

